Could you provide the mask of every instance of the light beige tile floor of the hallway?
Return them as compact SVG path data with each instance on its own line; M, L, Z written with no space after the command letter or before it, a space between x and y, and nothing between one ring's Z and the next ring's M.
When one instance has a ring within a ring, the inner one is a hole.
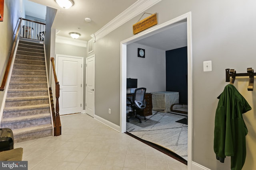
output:
M14 144L29 170L187 170L181 162L86 114L61 116L62 135Z

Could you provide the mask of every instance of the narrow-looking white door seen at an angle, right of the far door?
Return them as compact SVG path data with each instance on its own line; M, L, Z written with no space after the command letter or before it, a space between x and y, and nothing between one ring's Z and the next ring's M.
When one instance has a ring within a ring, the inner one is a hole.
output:
M94 117L94 95L95 95L95 55L91 55L86 58L85 68L85 82L86 82L86 94L85 94L85 107L86 113Z

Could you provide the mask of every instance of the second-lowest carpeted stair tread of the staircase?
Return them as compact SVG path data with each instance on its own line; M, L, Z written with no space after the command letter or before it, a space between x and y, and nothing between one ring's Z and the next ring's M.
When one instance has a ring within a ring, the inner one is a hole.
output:
M10 117L6 119L2 119L1 125L7 123L17 123L22 121L31 121L36 119L45 119L51 117L50 113L43 113L40 115L26 115L26 116L19 116L19 117Z

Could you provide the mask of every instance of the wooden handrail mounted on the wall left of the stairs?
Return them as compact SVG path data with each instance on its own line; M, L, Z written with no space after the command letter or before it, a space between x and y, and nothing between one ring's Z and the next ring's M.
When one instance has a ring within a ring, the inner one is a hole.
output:
M21 22L22 22L22 18L19 18L19 19L20 19L20 23L18 25L16 35L14 37L12 50L11 50L11 53L10 53L10 56L9 56L9 59L8 59L7 66L5 68L4 77L3 77L2 84L1 84L1 87L0 87L0 91L4 91L4 87L6 85L6 80L8 78L9 72L10 72L11 63L12 63L12 59L13 59L13 55L14 55L14 49L15 49L15 46L16 46L16 43L17 43L17 39L18 39L19 31L20 31L20 25L21 25Z

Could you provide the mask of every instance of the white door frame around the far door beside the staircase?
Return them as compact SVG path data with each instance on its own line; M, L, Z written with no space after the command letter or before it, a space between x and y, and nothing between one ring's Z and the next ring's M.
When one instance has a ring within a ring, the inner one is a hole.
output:
M83 98L83 94L84 94L84 57L78 57L78 56L71 56L71 55L62 55L62 54L56 54L56 63L55 63L55 70L56 70L56 75L58 78L58 57L68 57L68 58L76 58L76 59L82 59L82 73L81 73L81 83L82 83L82 87L81 87L81 104L84 104L84 98ZM83 106L81 107L81 113L83 113Z

